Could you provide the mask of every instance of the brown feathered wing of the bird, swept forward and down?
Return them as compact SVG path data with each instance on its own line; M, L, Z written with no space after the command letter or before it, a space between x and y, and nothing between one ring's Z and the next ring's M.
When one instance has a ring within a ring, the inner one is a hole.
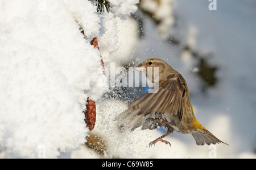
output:
M181 74L171 74L167 80L159 83L157 93L146 93L129 105L116 119L122 119L128 127L136 128L152 114L162 115L166 112L174 114L181 121L189 100L187 84Z

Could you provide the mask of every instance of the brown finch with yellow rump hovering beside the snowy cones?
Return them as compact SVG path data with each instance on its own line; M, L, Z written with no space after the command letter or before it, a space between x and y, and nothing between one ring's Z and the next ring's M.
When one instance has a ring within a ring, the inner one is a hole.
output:
M158 68L158 69L156 69ZM158 76L152 76L158 70ZM179 72L173 69L166 61L161 59L146 59L134 68L134 71L144 72L150 77L152 84L158 85L158 91L148 91L143 96L131 102L126 111L115 117L119 121L120 130L134 131L141 127L142 130L166 128L166 134L149 143L149 147L157 142L171 143L163 138L174 131L181 134L192 134L196 144L224 143L197 121L193 112L187 82ZM151 72L151 73L150 73ZM227 144L228 145L228 144Z

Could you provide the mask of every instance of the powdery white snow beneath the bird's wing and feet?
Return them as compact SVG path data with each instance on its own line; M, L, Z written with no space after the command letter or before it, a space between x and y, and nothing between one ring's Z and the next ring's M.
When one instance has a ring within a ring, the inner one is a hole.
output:
M104 157L119 158L184 158L188 155L188 147L184 143L170 137L173 146L166 146L164 143L158 143L149 148L148 143L160 136L157 130L141 130L137 128L134 131L119 132L117 122L114 118L127 109L123 102L108 99L98 102L98 124L94 127L94 133L106 139L108 151ZM104 113L104 114L103 114ZM180 150L184 148L184 150ZM171 153L170 153L171 152ZM95 157L95 155L93 156Z

